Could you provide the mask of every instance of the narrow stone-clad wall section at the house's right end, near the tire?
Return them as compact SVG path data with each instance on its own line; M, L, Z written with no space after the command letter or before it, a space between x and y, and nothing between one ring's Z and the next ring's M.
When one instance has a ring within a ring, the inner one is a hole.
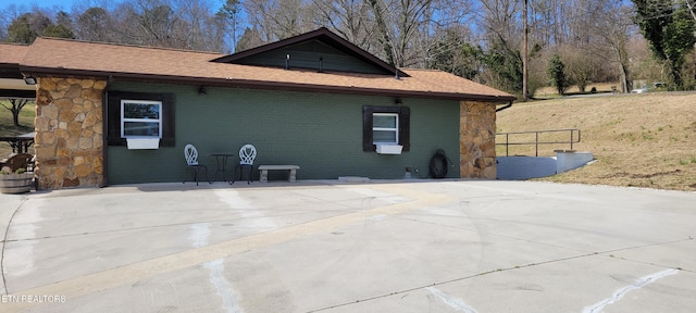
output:
M496 105L463 101L459 112L461 177L496 179Z

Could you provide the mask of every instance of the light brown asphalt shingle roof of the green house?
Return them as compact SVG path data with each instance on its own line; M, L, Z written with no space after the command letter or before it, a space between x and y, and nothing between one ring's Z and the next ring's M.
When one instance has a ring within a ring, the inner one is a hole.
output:
M359 73L319 73L211 62L225 54L37 38L28 47L0 45L0 63L18 63L24 73L112 76L211 86L403 95L507 102L513 96L456 75L400 68L410 77Z

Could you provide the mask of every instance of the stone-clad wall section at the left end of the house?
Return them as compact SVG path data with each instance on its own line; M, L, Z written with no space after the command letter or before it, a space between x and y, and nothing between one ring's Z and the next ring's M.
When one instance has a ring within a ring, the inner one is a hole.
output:
M105 80L39 77L36 162L40 189L102 186Z

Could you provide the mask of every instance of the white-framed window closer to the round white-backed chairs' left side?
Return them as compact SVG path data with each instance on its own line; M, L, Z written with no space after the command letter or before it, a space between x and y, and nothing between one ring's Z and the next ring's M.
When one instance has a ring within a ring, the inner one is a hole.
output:
M162 138L162 101L121 100L121 138Z

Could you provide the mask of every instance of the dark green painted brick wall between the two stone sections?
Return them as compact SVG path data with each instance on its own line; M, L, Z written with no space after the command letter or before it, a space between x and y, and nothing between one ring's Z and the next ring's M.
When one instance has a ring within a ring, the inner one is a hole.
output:
M128 150L108 147L108 183L179 181L184 177L184 146L198 148L209 174L216 170L211 153L234 153L245 143L256 146L260 164L295 164L298 179L363 176L402 178L406 166L427 175L430 159L444 149L455 162L448 177L459 177L459 103L401 99L411 109L411 151L382 155L362 151L362 107L394 105L395 98L303 93L196 86L113 84L111 90L174 92L175 147ZM231 160L228 168L238 162ZM285 174L284 174L285 175ZM254 170L254 179L259 173ZM271 173L270 179L284 179Z

